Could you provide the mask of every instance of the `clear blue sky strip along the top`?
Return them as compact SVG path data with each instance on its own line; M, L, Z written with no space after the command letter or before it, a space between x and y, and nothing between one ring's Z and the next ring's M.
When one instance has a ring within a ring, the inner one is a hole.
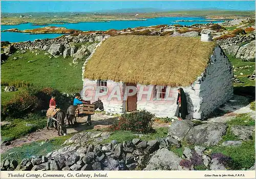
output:
M222 9L255 10L254 1L2 1L3 13L104 12L116 9L156 8L167 10Z

